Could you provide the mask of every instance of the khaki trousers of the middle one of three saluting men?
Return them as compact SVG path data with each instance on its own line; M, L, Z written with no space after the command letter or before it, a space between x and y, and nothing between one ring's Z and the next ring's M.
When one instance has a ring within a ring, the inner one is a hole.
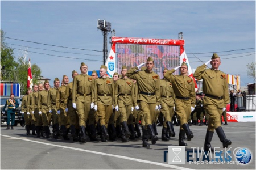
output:
M175 99L175 110L180 119L180 130L183 130L182 125L187 124L191 115L191 101Z

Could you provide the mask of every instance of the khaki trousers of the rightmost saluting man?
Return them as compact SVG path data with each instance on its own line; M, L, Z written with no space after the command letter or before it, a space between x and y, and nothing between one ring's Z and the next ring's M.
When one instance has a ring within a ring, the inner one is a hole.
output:
M214 129L221 126L220 117L223 112L223 108L217 108L216 105L205 105L205 111L209 115L208 119L208 131L214 131Z

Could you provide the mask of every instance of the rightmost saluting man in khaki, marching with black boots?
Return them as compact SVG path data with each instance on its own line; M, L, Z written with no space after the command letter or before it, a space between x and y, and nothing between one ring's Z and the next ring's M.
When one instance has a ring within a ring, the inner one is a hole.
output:
M212 68L206 69L209 62L212 65ZM226 135L220 122L220 116L222 112L226 110L226 104L229 103L226 74L219 70L220 65L221 59L218 54L214 53L208 62L197 67L194 74L196 79L203 79L205 111L209 114L208 128L204 142L205 151L213 151L210 142L212 141L214 129L222 142L223 148L228 147L232 143L230 140L226 139Z

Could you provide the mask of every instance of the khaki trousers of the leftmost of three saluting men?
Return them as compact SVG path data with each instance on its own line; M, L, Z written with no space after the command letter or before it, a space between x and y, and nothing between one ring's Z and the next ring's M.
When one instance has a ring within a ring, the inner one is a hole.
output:
M145 126L152 125L152 121L155 117L155 103L147 103L146 101L139 101L139 110L145 121Z

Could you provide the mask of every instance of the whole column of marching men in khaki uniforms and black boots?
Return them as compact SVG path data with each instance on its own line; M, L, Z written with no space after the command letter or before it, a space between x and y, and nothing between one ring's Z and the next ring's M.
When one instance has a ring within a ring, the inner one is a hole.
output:
M212 69L205 70L209 62ZM212 73L210 71L214 69L216 71L214 62L220 63L220 57L214 53L209 62L197 69L199 71L196 71L196 76L213 83L214 76L209 75L211 79L208 80L204 75ZM183 62L172 70L165 68L164 78L161 80L160 76L152 71L153 68L154 59L148 57L146 63L141 63L130 70L122 66L121 75L114 73L113 78L109 78L106 76L106 66L100 67L100 75L94 70L92 75L88 75L88 66L82 62L81 74L73 70L73 81L70 83L68 76L63 75L63 86L60 86L60 80L55 78L53 88L49 86L48 81L35 85L33 92L28 88L27 95L22 99L27 135L30 135L32 130L32 135L38 138L50 138L49 127L52 122L55 139L70 140L68 134L71 133L73 142L85 143L88 139L98 141L98 135L101 142L115 141L118 138L122 142L128 142L141 137L142 134L142 146L150 147L148 141L151 141L152 145L158 141L156 121L160 112L164 117L162 141L169 141L171 137L175 137L172 118L176 112L180 121L178 145L187 146L184 140L191 141L194 137L188 124L191 112L201 105L199 100L196 100L193 79L187 75L187 63ZM173 75L178 69L180 74ZM217 67L216 74L221 73ZM220 80L222 79L225 80L225 77L222 76ZM224 87L225 83L223 81L221 87ZM218 86L219 84L220 82ZM220 118L217 116L229 102L226 87L224 92L218 93L221 97L214 96L213 91L207 87L203 88L209 93L205 95L205 109L209 118L205 149L211 150L210 141L214 129L223 147L228 147L231 141L226 139L220 126ZM219 101L222 99L224 101ZM216 109L216 103L221 105L221 108L217 105Z

